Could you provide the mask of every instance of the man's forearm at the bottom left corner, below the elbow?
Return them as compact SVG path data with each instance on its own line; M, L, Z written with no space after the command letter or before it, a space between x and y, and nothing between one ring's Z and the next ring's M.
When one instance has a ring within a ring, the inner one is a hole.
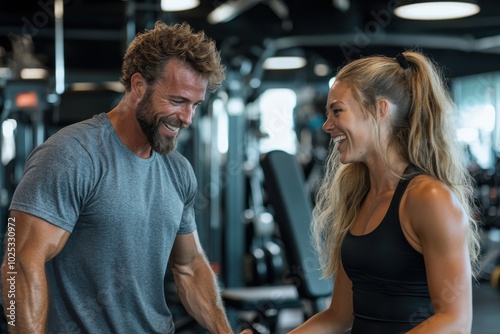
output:
M44 269L26 272L2 264L2 298L9 333L44 334L48 315L48 288Z

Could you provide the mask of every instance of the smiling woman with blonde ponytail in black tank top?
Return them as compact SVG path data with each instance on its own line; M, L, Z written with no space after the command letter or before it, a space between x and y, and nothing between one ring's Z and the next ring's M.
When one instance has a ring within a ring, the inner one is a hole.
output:
M453 107L420 52L340 70L313 222L334 293L291 333L470 333L479 243Z

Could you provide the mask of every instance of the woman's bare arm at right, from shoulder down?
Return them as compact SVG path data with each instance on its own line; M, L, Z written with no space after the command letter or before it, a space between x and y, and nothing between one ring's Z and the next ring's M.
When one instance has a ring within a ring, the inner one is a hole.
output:
M435 314L408 333L470 333L472 275L467 246L468 220L448 187L430 177L414 179L401 206L425 260Z

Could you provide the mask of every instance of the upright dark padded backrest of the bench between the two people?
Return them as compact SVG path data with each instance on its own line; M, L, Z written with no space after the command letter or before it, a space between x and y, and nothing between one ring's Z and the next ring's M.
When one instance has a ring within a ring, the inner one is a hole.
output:
M274 208L285 253L291 260L290 275L299 295L313 303L313 312L323 309L321 299L331 295L333 282L321 279L318 254L311 243L312 202L295 157L283 151L263 156L266 191Z

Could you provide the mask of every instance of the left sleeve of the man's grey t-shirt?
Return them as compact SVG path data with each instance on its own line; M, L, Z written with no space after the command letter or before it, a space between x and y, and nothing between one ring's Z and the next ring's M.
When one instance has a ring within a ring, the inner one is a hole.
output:
M72 232L91 193L88 152L72 137L49 138L30 154L10 210L42 218Z

